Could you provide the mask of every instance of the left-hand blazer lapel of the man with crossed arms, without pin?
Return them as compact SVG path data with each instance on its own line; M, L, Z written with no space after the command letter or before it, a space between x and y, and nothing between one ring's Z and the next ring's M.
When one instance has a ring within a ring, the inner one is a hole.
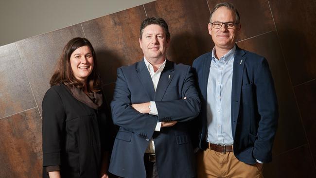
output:
M140 79L140 83L143 86L150 101L154 101L155 89L153 80L150 77L150 73L145 65L144 59L142 59L136 66L137 75Z

